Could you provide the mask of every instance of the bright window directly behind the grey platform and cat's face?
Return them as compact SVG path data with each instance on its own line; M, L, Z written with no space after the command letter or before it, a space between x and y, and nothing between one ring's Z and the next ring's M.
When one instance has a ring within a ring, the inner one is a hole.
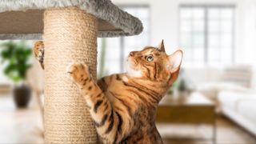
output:
M150 42L149 6L121 6L122 10L139 18L144 26L142 34L119 38L98 38L98 77L124 72L130 51L142 50Z

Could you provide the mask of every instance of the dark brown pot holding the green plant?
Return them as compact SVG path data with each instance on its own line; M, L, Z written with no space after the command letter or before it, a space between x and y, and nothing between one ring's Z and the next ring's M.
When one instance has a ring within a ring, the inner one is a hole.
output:
M18 108L26 108L29 105L31 90L29 86L14 87L14 103Z

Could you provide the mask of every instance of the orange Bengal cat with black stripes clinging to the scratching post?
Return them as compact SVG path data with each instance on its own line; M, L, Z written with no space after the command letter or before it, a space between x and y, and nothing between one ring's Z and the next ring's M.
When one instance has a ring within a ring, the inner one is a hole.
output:
M42 55L37 47L34 54ZM88 66L78 62L69 66L68 74L81 90L103 143L157 144L163 143L155 126L158 102L178 78L181 63L182 50L167 55L162 41L159 47L130 52L127 73L94 82Z

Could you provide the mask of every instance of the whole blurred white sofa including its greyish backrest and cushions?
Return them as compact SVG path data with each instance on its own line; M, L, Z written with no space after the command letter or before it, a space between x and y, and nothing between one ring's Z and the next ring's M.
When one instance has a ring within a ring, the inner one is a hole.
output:
M216 111L256 136L256 71L251 66L186 69L186 75L216 104Z

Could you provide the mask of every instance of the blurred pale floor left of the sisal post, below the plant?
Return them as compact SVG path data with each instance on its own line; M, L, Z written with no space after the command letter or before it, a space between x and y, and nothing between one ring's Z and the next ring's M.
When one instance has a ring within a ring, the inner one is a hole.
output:
M0 143L43 143L42 115L37 109L16 109L0 96Z

